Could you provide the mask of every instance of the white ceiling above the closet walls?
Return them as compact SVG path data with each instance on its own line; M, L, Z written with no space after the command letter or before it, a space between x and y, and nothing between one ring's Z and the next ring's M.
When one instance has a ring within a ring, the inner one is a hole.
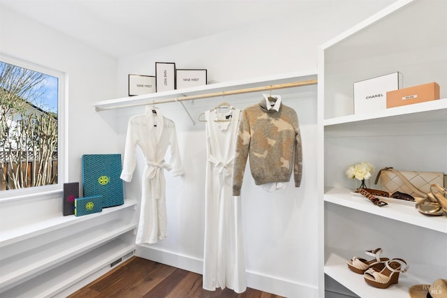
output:
M349 1L0 0L0 8L119 58Z

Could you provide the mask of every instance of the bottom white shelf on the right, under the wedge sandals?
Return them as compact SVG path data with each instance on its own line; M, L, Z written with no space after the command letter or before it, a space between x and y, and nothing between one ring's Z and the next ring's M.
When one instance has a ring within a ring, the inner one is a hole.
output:
M349 258L354 255L356 253L353 253ZM445 267L427 266L412 262L408 271L399 275L399 283L390 285L387 289L379 289L368 285L362 274L351 271L346 265L346 259L337 253L330 253L328 260L325 262L324 272L362 298L408 298L408 290L412 285L430 285L440 276L444 276L446 269Z

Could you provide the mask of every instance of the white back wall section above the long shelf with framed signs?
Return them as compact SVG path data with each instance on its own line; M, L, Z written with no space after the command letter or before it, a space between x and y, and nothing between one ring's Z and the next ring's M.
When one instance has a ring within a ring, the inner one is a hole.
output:
M206 68L210 83L315 70L318 45L394 1L321 1L321 7L305 11L290 1L290 15L272 15L261 24L119 59L118 94L127 96L129 73L155 75L155 61Z

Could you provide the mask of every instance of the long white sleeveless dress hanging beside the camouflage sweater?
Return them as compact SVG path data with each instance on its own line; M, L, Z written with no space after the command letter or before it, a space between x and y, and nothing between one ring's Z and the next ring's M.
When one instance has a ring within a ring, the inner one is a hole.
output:
M205 247L203 288L247 289L240 197L233 197L233 161L241 111L206 111ZM216 121L229 119L230 121Z

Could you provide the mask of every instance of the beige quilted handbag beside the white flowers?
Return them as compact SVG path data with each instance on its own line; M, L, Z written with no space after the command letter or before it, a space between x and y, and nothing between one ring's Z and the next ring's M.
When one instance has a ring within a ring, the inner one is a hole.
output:
M412 197L425 198L432 184L444 186L443 172L398 171L393 167L384 167L376 176L374 184L381 182L381 190L392 194L396 191Z

